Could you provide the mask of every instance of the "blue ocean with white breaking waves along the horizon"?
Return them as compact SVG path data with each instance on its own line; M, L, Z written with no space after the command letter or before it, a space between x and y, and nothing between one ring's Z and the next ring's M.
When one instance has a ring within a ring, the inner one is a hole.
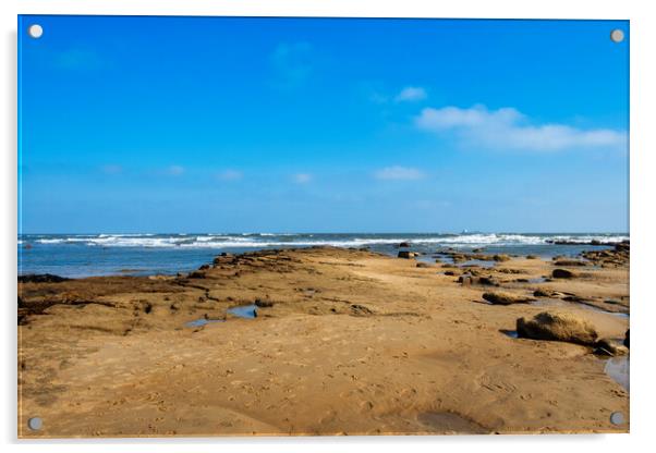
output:
M607 248L591 245L558 245L552 241L617 243L628 234L616 233L203 233L203 234L22 234L19 236L19 274L53 273L61 277L174 274L197 269L222 253L267 248L368 247L396 256L401 242L432 256L453 247L463 252L510 255L576 256L582 250Z

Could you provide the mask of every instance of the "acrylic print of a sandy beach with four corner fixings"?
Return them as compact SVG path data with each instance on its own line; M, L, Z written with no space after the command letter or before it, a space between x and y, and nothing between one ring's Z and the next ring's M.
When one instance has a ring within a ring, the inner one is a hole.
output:
M21 437L629 430L627 21L19 27Z

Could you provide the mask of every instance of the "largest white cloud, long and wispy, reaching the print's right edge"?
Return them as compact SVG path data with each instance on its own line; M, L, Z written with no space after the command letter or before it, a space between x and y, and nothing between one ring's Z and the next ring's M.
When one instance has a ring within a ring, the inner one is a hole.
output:
M627 133L609 128L581 130L567 124L531 124L513 108L488 110L425 108L415 118L417 127L434 133L453 132L461 142L490 149L559 151L576 148L625 149Z

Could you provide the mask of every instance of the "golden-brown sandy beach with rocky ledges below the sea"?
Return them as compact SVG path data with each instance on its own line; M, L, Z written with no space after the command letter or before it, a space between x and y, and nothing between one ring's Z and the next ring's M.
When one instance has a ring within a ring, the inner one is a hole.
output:
M629 393L592 347L508 334L557 308L623 339L628 262L546 281L557 266L543 259L473 268L498 287L417 262L306 248L219 257L189 276L20 283L19 434L628 431ZM482 297L538 289L559 293ZM229 310L252 304L255 318Z

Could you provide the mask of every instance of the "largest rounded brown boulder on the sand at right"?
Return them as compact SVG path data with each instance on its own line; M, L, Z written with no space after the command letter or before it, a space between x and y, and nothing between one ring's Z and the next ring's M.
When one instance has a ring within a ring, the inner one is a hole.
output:
M561 311L543 311L532 319L519 318L517 332L520 338L583 345L594 345L598 338L597 330L587 320Z

